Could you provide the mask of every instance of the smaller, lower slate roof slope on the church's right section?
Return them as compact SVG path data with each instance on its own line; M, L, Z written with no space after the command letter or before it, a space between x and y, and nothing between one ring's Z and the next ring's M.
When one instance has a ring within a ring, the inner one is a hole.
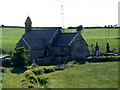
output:
M77 33L61 33L54 46L68 46Z

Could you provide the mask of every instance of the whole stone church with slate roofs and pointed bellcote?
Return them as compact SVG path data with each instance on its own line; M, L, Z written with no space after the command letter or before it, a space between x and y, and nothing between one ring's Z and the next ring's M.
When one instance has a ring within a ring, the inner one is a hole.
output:
M25 33L16 48L31 50L31 59L43 57L84 58L89 56L88 45L79 30L76 33L62 33L56 30L32 30L32 21L27 17Z

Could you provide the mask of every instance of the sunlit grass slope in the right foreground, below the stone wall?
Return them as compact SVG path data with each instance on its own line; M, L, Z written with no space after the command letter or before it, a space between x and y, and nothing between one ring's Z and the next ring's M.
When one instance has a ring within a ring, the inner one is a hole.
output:
M118 63L87 63L47 74L49 88L118 88Z

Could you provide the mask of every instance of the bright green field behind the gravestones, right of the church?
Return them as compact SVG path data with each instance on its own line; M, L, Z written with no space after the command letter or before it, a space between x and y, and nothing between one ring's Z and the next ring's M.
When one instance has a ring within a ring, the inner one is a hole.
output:
M96 45L98 42L100 52L106 52L106 43L108 42L110 45L110 50L116 48L116 52L118 52L118 31L119 29L86 29L82 31L82 36L88 43L88 48L90 50L91 44Z

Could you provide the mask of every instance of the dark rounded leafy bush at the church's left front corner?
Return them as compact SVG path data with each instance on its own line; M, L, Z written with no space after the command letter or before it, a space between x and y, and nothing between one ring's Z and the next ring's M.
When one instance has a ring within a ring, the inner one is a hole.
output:
M11 64L16 68L24 68L28 61L28 50L24 47L17 48L16 51L11 56Z

